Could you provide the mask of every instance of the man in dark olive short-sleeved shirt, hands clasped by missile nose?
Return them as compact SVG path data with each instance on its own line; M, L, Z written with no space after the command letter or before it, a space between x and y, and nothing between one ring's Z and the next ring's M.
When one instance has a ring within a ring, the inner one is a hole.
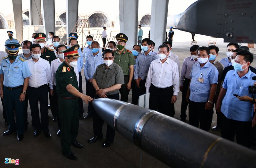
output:
M109 98L118 100L119 89L122 84L124 84L123 70L113 62L115 57L111 50L104 50L102 56L104 64L101 64L96 68L92 77L92 85L96 90L95 99ZM97 114L97 111L94 114L92 121L94 136L88 140L88 143L94 143L103 137L102 126L104 121ZM102 147L108 147L113 143L115 132L115 129L109 125L107 126L106 141L103 143Z

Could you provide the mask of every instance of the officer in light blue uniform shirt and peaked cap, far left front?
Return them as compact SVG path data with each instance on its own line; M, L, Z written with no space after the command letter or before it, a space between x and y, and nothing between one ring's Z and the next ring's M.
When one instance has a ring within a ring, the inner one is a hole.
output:
M0 66L0 95L4 98L4 107L9 122L8 130L3 135L9 135L13 131L17 132L17 139L23 139L25 130L24 109L25 94L28 87L28 79L31 75L28 64L24 59L17 57L19 52L19 43L8 43L5 45L7 57L2 59ZM16 123L14 121L14 111Z

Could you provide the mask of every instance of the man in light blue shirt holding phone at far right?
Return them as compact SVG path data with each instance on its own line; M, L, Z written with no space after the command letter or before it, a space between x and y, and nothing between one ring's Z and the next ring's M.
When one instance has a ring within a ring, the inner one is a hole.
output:
M234 69L228 71L223 82L216 110L221 116L221 136L250 148L250 136L253 118L253 102L240 101L236 96L255 97L249 94L248 88L253 85L253 76L256 76L248 68L253 61L253 55L249 51L236 53ZM235 96L233 94L236 94Z

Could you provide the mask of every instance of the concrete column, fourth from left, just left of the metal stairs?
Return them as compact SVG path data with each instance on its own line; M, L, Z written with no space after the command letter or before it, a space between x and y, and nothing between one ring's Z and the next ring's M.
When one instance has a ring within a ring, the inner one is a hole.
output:
M68 34L72 32L76 25L78 18L78 1L79 0L67 0L67 38ZM73 32L76 32L74 30Z

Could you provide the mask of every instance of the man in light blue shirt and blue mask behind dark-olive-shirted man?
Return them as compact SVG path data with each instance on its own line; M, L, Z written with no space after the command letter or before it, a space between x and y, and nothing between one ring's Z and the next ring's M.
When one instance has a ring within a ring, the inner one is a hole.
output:
M87 56L87 59L85 60L84 76L86 79L86 90L85 90L86 95L94 99L96 90L92 86L92 77L96 71L96 67L99 66L100 64L103 64L103 58L102 58L102 54L99 51L100 43L98 43L97 41L93 41L91 43L91 49L92 49L92 54ZM87 113L88 114L84 117L84 119L87 119L92 116L91 102L89 102Z

